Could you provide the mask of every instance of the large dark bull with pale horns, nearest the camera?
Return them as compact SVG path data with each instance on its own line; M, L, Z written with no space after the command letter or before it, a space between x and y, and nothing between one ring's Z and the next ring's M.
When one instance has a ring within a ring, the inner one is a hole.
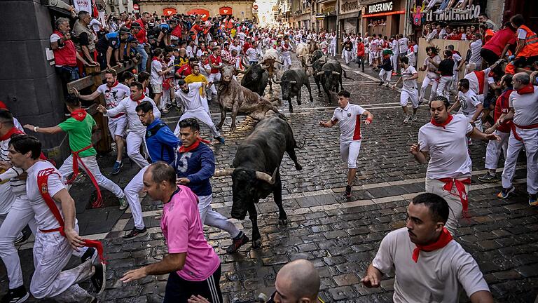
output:
M304 145L304 144L303 144ZM255 203L273 193L279 211L279 224L287 224L288 217L282 207L282 182L278 168L284 152L303 169L297 161L298 147L291 126L278 116L263 119L254 131L237 147L233 168L217 170L214 177L231 175L233 181L233 204L231 215L244 220L247 213L252 222L252 248L261 246L258 230L258 214Z

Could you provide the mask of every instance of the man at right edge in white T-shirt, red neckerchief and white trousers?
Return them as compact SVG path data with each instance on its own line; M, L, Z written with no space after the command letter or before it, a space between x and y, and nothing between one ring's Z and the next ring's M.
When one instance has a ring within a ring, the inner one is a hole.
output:
M513 75L513 89L516 91L510 94L510 111L499 118L501 123L512 120L512 132L502 170L502 191L497 197L508 198L514 191L512 180L516 161L520 150L525 147L529 205L538 206L538 86L530 83L529 74L520 72Z

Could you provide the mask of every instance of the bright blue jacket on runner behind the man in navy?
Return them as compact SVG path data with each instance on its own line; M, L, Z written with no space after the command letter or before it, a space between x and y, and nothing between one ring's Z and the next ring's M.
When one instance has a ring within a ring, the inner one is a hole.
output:
M179 145L181 145L181 141L160 119L155 119L146 128L146 147L148 147L151 161L174 162L174 151Z

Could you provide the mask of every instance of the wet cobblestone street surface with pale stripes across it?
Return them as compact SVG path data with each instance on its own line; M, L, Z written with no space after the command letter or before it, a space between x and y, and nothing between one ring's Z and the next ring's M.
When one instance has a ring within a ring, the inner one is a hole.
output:
M356 65L352 63L351 67ZM322 276L321 296L326 302L392 301L393 276L387 277L377 289L364 288L359 280L382 237L405 225L408 202L424 190L426 166L415 163L408 148L416 142L418 128L429 121L429 112L423 105L418 112L418 122L403 124L397 91L378 87L368 77L371 73L357 74L348 70L347 74L352 80L346 79L344 87L352 93L352 102L364 106L374 115L374 123L362 127L359 173L352 198L343 196L346 168L338 154L338 129L317 126L320 119L331 118L334 107L326 103L324 93L317 95L312 81L314 102L304 97L303 105L296 106L294 101L294 114L287 112L286 104L281 107L296 140L306 142L297 152L303 170L296 171L288 156L284 156L280 169L284 208L290 223L286 227L277 224L277 208L271 197L260 201L257 207L261 214L258 222L262 248L251 250L247 244L235 255L226 255L225 248L231 243L226 232L206 227L209 243L221 257L221 290L225 302L251 302L258 292L270 294L274 291L277 271L283 264L298 258L308 259L318 267ZM305 92L303 89L303 96ZM279 93L277 87L275 94ZM218 122L220 116L216 105L212 105L212 112L215 113L214 121ZM174 127L177 114L168 114L166 121ZM230 165L237 144L251 132L254 124L252 119L239 117L236 132L230 133L228 117L223 126L226 144L212 144L217 168ZM210 137L209 130L203 126L202 136ZM534 302L538 293L538 261L534 260L538 255L538 234L533 231L538 228L538 210L527 204L525 165L520 163L518 166L516 196L507 201L499 200L495 196L500 189L499 183L481 184L476 180L484 173L484 151L483 142L474 142L469 149L474 169L469 194L471 218L460 222L456 239L477 260L497 302ZM100 161L103 167L111 166L104 161L109 160ZM127 168L118 177L121 186L125 186L136 170ZM109 170L105 171L109 173ZM229 216L230 177L214 178L212 184L213 207ZM87 193L81 190L83 192ZM88 195L81 198L88 200ZM117 216L113 227L91 235L104 238L109 261L109 284L102 295L104 302L163 300L167 275L151 276L127 285L118 280L129 269L162 259L167 251L159 222L153 218L159 203L148 197L142 206L144 220L150 227L148 236L135 241L120 239L132 228L129 210ZM110 206L109 213L113 213L113 208L116 206ZM104 221L104 217L100 219ZM247 235L251 234L249 220L234 222ZM32 260L31 247L32 243L28 243L20 249L26 285L29 285L32 272L32 263L25 262ZM76 264L76 260L72 261ZM0 285L2 290L7 287L5 269L1 265ZM89 283L83 283L83 287L90 287ZM467 301L462 295L462 302Z

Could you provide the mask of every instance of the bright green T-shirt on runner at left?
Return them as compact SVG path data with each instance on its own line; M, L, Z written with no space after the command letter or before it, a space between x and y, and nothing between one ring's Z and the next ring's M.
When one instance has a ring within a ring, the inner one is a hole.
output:
M86 114L83 121L76 121L73 117L69 117L66 121L58 124L64 132L69 135L69 147L71 152L77 152L88 145L92 144L92 129L95 126L95 120L90 114ZM93 156L97 154L95 148L86 149L78 156Z

